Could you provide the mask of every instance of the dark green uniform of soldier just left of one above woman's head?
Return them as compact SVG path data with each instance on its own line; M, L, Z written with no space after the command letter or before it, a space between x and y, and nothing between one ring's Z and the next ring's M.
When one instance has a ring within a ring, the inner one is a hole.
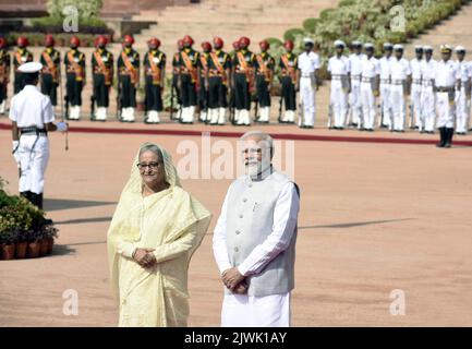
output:
M124 58L123 58L124 56ZM132 69L125 64L125 60ZM136 86L140 82L140 53L132 48L124 48L118 57L118 83L121 84L121 107L136 107Z

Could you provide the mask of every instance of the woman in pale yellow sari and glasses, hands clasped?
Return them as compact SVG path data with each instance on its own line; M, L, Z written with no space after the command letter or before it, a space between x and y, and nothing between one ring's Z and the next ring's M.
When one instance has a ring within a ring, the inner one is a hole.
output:
M119 326L186 326L189 263L210 219L181 188L170 155L144 144L108 230Z

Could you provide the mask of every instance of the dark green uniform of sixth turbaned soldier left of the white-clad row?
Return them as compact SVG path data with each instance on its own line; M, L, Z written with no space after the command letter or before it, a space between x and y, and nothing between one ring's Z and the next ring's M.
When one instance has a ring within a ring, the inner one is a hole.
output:
M183 56L189 58L189 67L185 64ZM197 82L197 67L199 64L199 53L193 48L184 48L179 53L178 67L180 70L181 91L180 98L182 107L187 108L196 106L196 84Z

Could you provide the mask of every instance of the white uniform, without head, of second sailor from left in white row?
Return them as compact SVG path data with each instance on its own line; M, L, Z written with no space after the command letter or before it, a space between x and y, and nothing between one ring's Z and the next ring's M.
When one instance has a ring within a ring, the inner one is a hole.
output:
M346 56L334 56L328 60L328 72L331 74L330 108L332 124L328 127L343 128L348 112L348 93L343 81L347 83L350 73L350 62Z

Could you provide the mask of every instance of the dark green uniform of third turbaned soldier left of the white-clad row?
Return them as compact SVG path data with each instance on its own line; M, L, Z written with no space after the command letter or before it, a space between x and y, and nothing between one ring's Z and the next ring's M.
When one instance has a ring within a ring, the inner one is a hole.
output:
M244 60L246 68L244 69ZM241 49L234 55L233 71L234 71L234 108L237 110L251 109L251 94L254 88L254 65L256 56L247 49Z

